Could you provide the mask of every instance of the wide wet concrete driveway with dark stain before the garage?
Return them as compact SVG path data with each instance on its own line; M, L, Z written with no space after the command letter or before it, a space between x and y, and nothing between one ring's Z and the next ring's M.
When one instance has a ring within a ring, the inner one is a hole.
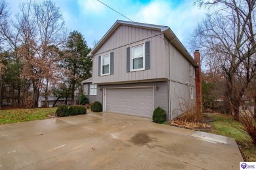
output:
M0 126L0 169L239 169L233 139L98 113Z

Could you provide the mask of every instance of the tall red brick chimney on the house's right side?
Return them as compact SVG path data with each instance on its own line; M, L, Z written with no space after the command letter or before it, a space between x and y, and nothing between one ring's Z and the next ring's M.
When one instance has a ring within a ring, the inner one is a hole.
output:
M201 84L201 59L199 50L194 51L194 59L196 63L198 63L198 67L196 67L196 107L203 111L202 107L202 84Z

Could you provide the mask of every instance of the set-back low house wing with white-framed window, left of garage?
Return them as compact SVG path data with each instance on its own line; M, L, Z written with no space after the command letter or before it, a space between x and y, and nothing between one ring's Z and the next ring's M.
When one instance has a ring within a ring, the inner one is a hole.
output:
M93 103L96 101L97 94L97 85L92 84L92 78L88 78L87 80L83 80L81 82L83 86L83 93L87 95L89 99L89 103Z

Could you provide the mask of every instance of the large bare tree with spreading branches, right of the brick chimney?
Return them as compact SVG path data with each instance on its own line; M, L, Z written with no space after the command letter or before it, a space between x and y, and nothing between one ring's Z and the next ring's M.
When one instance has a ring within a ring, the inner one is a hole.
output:
M190 44L200 48L206 60L214 61L213 67L223 71L225 96L236 120L242 96L256 75L255 2L195 1L201 7L215 8L215 12L198 24Z

